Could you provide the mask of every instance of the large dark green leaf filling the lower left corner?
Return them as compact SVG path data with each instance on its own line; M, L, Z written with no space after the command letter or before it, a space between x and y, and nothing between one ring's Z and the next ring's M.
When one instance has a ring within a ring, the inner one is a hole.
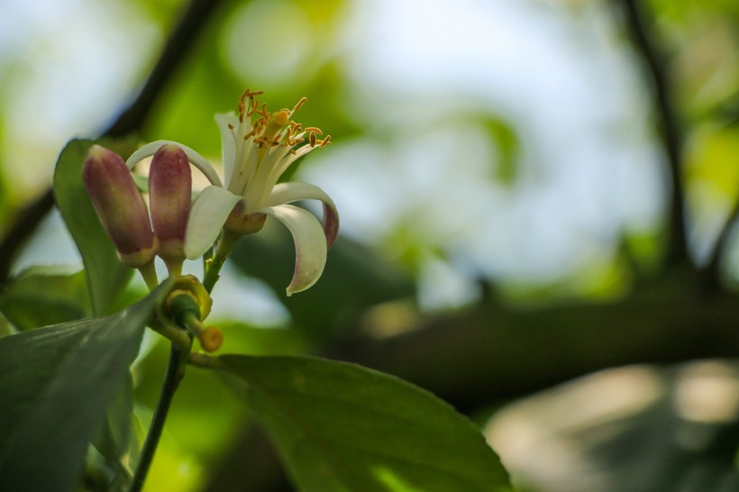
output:
M0 339L0 477L14 492L78 486L87 445L136 357L144 325L169 289L106 318ZM9 487L9 488L7 488Z

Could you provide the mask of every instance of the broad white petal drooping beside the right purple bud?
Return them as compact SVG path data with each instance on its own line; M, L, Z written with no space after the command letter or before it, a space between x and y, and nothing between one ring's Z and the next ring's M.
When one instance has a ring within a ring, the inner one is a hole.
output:
M190 209L185 233L185 255L190 260L203 256L213 245L218 233L241 196L222 187L206 187Z

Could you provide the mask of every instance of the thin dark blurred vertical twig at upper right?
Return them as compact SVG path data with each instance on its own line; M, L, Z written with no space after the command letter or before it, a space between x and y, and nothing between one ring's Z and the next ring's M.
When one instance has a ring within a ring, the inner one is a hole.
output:
M675 107L671 100L671 88L664 67L663 57L655 47L655 43L647 32L645 17L646 7L637 5L635 0L617 0L625 14L628 34L634 48L642 56L646 68L652 77L652 92L655 110L658 116L660 138L667 152L670 166L671 208L670 231L668 232L668 266L688 264L688 240L685 225L685 187L682 175L682 134ZM642 2L644 3L644 2Z

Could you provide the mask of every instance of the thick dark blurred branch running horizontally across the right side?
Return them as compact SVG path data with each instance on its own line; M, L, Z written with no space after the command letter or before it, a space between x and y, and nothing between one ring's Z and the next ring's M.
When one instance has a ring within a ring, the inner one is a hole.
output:
M735 297L704 296L684 280L670 277L609 304L481 305L327 355L395 374L462 411L601 369L739 356Z

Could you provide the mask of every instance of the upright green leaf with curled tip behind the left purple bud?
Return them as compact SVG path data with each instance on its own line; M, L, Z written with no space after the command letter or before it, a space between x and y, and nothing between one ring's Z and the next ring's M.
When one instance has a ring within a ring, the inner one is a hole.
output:
M111 141L73 140L61 151L54 170L54 196L85 262L93 313L102 315L110 313L116 296L131 279L132 269L118 260L113 242L97 218L82 182L87 150L97 142L108 148L116 147ZM128 145L123 142L120 147ZM126 152L122 153L125 158Z

